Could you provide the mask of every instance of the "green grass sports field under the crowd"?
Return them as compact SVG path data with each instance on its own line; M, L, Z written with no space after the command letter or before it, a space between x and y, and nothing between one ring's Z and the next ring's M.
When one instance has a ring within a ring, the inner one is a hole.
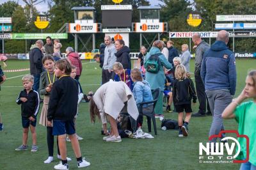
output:
M84 93L99 88L101 71L97 63L83 61L83 73L80 78ZM29 68L28 61L8 61L7 70ZM1 63L2 65L2 63ZM255 59L237 59L237 90L241 93L248 70L256 68ZM218 66L218 63L216 64ZM97 69L95 69L97 68ZM194 61L191 60L191 70L194 70ZM53 169L58 164L56 146L54 146L54 162L44 164L48 157L46 143L46 128L36 125L38 151L15 151L22 144L22 125L20 118L20 105L15 100L22 89L21 78L26 72L6 72L8 80L1 86L0 111L4 123L4 131L0 132L0 169ZM18 77L19 76L19 77ZM14 78L13 78L14 77ZM193 77L193 76L192 76ZM42 108L42 105L41 105ZM193 106L197 111L198 104ZM165 112L165 118L177 120L177 113ZM198 143L207 141L212 118L191 118L189 123L189 136L180 138L176 130L163 131L161 122L157 119L157 133L154 139L123 139L122 143L106 143L100 134L101 123L90 123L88 103L81 103L77 118L77 134L84 138L80 141L83 156L91 163L86 169L239 169L239 164L200 164L198 162ZM235 120L225 120L227 130L236 130ZM143 130L147 132L147 123ZM154 132L154 131L153 131ZM31 147L31 135L28 140ZM67 143L70 169L77 169L76 158Z

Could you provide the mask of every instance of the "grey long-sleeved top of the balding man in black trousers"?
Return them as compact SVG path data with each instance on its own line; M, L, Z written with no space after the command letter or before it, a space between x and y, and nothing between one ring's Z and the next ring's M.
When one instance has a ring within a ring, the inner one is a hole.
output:
M203 55L206 50L210 49L210 45L202 40L197 47L195 51L195 75L200 75L201 70L201 64L203 61Z

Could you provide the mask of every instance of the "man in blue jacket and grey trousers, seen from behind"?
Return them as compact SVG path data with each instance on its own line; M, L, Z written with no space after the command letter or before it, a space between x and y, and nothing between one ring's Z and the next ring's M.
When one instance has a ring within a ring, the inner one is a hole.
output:
M236 60L234 53L228 49L228 32L221 30L217 41L204 53L201 77L205 84L211 112L213 114L209 136L218 135L224 130L221 113L232 102L236 92ZM221 138L225 137L222 134ZM211 142L216 142L216 138Z

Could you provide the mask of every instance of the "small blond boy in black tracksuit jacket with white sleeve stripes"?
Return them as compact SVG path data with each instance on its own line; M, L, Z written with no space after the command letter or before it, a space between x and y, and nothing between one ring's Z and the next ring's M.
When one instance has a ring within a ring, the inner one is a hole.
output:
M16 100L17 104L21 104L22 117L22 145L15 150L28 150L28 128L32 134L33 145L31 151L37 151L36 146L36 115L39 111L39 95L38 92L32 89L34 77L32 75L25 75L22 77L24 90L20 91L19 97Z

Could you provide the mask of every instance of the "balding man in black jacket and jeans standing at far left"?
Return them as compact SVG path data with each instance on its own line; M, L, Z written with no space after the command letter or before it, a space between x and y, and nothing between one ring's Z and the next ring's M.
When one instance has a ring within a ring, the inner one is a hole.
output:
M42 47L44 42L42 40L37 40L35 45L32 45L29 51L29 61L30 61L30 74L34 77L33 89L38 91L40 83L40 74L44 71L42 58Z

